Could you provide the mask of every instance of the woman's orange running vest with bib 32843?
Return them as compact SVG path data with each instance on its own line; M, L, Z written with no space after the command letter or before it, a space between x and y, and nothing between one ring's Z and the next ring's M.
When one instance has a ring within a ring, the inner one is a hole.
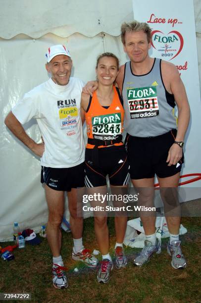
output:
M87 124L87 136L99 142L111 141L111 145L122 145L122 142L115 143L115 140L123 132L124 109L120 101L121 95L118 88L113 87L114 97L108 108L104 108L97 98L96 92L90 98L88 111L85 112ZM118 90L118 91L117 91ZM108 144L107 144L108 145ZM88 149L93 149L95 145L87 144ZM99 148L105 147L104 144Z

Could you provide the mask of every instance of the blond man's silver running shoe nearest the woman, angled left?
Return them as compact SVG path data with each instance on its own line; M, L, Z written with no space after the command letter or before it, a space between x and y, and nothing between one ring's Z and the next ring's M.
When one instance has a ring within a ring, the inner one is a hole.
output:
M145 240L145 246L142 252L134 259L134 265L142 266L149 261L153 253L161 253L159 241L156 239L156 245L152 245L149 240Z

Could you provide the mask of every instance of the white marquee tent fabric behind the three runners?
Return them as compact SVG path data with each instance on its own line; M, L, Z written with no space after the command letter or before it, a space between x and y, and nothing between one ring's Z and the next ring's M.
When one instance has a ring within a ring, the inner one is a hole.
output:
M201 75L201 1L194 6ZM100 53L128 60L119 35L121 23L133 20L133 5L132 0L0 0L0 7L0 241L5 241L14 221L37 230L48 218L40 161L8 131L5 116L25 92L47 80L45 52L53 44L67 45L73 76L85 82L95 78ZM35 121L25 129L40 142Z

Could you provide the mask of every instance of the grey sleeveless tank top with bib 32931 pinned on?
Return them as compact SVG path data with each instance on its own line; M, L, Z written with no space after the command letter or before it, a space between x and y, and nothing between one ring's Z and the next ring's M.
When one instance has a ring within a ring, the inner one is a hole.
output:
M122 88L124 129L135 137L155 137L176 128L174 95L165 89L161 59L154 59L151 71L134 75L126 62Z

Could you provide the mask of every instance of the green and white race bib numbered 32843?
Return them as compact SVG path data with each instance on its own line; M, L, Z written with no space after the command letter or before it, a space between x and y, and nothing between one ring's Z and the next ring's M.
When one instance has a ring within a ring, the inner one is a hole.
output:
M121 113L107 114L92 117L92 134L94 138L101 140L110 140L108 136L121 134Z

